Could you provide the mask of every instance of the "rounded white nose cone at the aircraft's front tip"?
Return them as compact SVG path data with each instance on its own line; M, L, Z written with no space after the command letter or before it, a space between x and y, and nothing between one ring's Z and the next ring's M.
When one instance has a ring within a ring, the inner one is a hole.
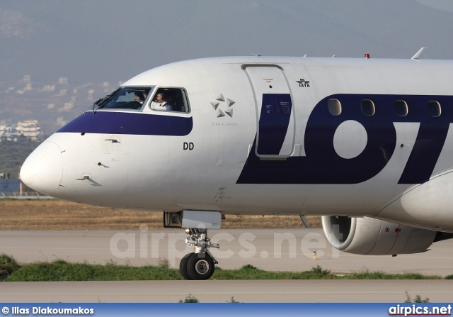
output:
M25 185L50 196L57 191L62 177L62 151L49 141L38 146L21 168L21 180Z

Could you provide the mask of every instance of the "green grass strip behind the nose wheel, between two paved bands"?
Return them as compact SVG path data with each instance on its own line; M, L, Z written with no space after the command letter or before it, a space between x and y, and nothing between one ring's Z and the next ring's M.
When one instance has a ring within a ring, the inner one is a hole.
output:
M452 279L453 275L445 277ZM93 265L89 263L69 263L64 260L35 262L17 265L7 255L0 256L0 279L4 282L55 282L55 281L136 281L136 280L180 280L178 269L166 267L129 265ZM244 265L240 269L216 267L211 279L442 279L436 275L415 273L386 274L384 272L352 272L333 274L328 269L313 267L304 272L268 272Z

